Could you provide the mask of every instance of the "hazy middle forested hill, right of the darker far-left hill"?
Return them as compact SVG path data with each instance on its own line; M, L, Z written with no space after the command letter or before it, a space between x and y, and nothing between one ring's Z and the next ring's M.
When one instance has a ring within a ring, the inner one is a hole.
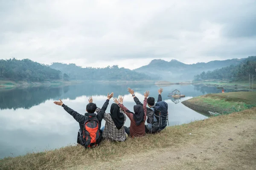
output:
M106 68L81 68L75 64L52 63L49 67L61 71L70 79L78 80L150 80L150 76L117 65Z

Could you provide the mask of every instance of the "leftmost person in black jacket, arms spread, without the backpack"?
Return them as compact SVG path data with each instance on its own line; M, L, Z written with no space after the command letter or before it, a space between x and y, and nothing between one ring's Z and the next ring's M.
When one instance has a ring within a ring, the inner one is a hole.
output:
M100 128L104 113L105 113L106 109L108 108L109 100L113 97L113 95L114 95L113 92L111 94L108 94L107 100L104 103L104 105L102 106L102 108L100 109L100 111L98 112L98 114L94 113L97 109L97 106L96 106L96 104L93 103L93 100L91 97L89 98L89 104L86 106L87 113L85 113L84 115L81 115L81 114L77 113L76 111L74 111L73 109L67 107L67 105L64 105L64 103L61 101L61 99L59 99L60 102L54 102L55 105L62 106L64 108L64 110L67 111L67 113L69 113L71 116L73 116L73 118L77 122L79 122L80 130L78 132L78 137L77 137L78 144L81 144L82 140L83 140L81 134L83 133L84 120L85 120L86 116L96 117L96 119L98 119L98 121L99 121L99 128Z

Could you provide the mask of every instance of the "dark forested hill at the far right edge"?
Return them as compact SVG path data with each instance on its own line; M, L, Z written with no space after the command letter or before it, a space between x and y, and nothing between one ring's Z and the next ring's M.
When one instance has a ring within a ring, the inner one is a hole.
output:
M230 79L230 80L244 80L248 79L249 74L255 74L256 69L256 56L244 59L240 65L230 65L216 69L214 71L202 72L194 77L195 80L206 79Z

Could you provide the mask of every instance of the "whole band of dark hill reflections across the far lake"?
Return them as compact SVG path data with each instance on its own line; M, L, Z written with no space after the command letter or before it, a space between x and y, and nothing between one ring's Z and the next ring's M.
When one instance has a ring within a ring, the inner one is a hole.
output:
M135 92L143 94L145 90L150 91L150 96L157 100L159 87L153 84L108 84L108 83L83 83L70 86L40 86L30 88L13 88L0 90L1 109L29 109L39 105L48 99L76 99L79 96L107 95L114 92L114 96L128 94L127 88L133 88ZM164 87L163 100L168 99L167 95L178 89L186 96L200 96L208 93L221 93L221 89L200 85L170 85ZM228 92L228 90L227 90ZM141 99L142 100L142 99Z

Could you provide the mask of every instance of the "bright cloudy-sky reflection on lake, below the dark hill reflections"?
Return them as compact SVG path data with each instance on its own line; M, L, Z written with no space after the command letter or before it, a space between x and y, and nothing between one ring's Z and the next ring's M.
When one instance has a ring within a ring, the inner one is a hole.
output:
M179 86L180 88L182 86ZM190 99L192 94L198 94L197 91L192 87L184 86L182 91L188 97L181 98L181 102ZM169 105L169 123L170 125L179 125L187 122L191 122L195 119L205 119L206 117L187 108L181 103L175 105L171 99L167 99L169 91L173 91L175 86L166 87L163 92L163 100ZM76 88L79 89L79 88ZM155 98L157 101L158 93L157 86L152 86L150 89L150 96ZM134 88L135 91L137 91ZM186 92L187 91L187 92ZM135 95L140 102L144 100L145 91L135 92ZM190 92L190 93L189 93ZM33 91L31 93L34 93ZM111 93L111 91L109 92ZM81 93L78 93L81 94ZM90 93L88 93L90 94ZM77 111L80 114L84 114L86 111L86 105L90 95L84 95L79 97L70 97L73 94L64 96L63 102L68 107ZM99 93L101 94L101 93ZM104 93L105 94L105 93ZM108 91L105 95L94 95L93 102L98 107L102 107L105 100L107 99ZM114 97L118 97L119 93L115 93ZM81 94L82 95L82 94ZM122 93L124 96L124 105L129 110L133 111L135 105L134 99L128 91ZM199 95L199 94L198 94ZM62 99L62 98L61 98ZM35 105L29 109L18 108L4 109L0 111L0 158L4 156L12 156L9 153L12 152L17 156L18 154L25 154L27 151L44 150L46 148L62 147L70 143L76 142L77 130L79 130L79 124L70 116L61 106L55 105L55 100L49 99L44 103ZM109 106L106 110L110 113L111 104L113 99L110 100ZM16 107L16 103L14 105ZM102 120L102 126L105 125L105 121ZM125 126L130 126L130 120L127 118ZM20 141L17 143L13 139L13 134Z

